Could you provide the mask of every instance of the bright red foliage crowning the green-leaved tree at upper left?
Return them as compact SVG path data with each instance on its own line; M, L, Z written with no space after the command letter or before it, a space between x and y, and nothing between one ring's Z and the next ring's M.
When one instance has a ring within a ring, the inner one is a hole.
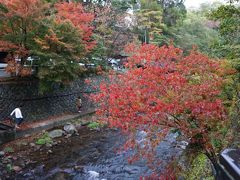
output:
M90 51L93 49L96 44L96 42L91 39L93 34L91 22L94 19L94 15L92 13L85 12L80 3L57 3L55 8L58 11L57 20L59 22L70 21L82 33L82 40L86 45L86 50Z

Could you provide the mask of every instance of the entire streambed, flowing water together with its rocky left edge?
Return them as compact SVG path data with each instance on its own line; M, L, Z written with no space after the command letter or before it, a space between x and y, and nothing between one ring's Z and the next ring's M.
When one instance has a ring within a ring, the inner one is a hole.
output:
M61 128L61 129L60 129ZM132 151L118 152L126 140L119 130L109 128L89 129L77 126L77 132L66 133L63 127L49 142L39 145L46 132L26 137L5 145L0 152L0 177L2 179L139 179L152 174L144 160L128 163ZM140 138L144 138L144 133ZM47 138L46 138L47 141ZM158 147L158 156L165 163L180 154L181 145L171 134ZM2 154L1 154L2 153Z

